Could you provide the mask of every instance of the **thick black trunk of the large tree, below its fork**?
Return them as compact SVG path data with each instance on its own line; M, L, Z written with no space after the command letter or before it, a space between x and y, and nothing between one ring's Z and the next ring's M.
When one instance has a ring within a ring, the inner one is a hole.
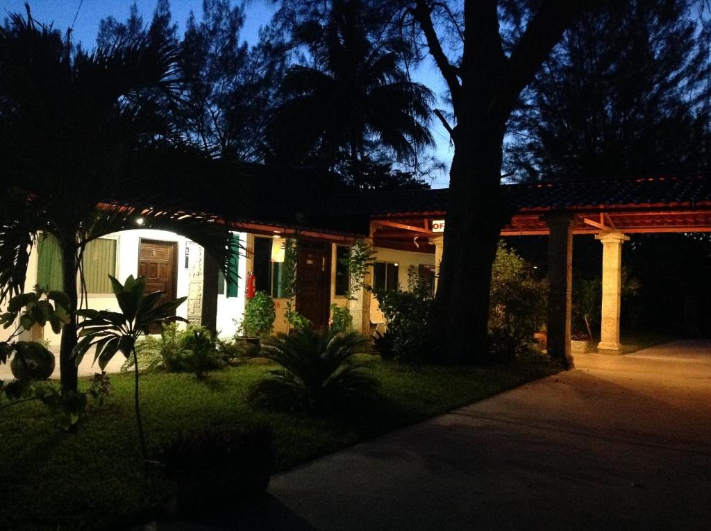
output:
M458 127L454 145L429 336L439 360L483 364L489 360L491 265L507 218L499 188L503 127L483 124L479 132Z

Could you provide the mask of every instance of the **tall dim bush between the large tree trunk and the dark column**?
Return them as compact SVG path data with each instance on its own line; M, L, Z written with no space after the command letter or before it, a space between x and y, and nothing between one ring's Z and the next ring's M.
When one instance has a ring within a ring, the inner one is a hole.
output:
M533 347L545 323L547 285L530 278L525 260L499 242L491 270L488 331L493 359L510 360Z

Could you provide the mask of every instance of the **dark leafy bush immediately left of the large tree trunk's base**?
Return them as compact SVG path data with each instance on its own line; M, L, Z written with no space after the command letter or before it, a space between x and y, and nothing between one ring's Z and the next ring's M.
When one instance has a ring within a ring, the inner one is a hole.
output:
M407 271L408 291L375 291L387 331L392 334L393 358L422 363L427 358L427 321L432 312L432 286L420 279L414 267ZM385 343L387 344L387 343ZM387 356L387 351L385 351Z

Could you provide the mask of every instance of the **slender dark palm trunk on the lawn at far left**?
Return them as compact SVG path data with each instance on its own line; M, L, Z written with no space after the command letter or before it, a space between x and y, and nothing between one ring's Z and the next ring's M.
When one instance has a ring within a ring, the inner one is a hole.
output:
M60 384L63 391L77 390L77 367L72 352L77 344L77 245L75 235L64 235L62 245L62 287L69 298L69 322L62 329L59 350Z

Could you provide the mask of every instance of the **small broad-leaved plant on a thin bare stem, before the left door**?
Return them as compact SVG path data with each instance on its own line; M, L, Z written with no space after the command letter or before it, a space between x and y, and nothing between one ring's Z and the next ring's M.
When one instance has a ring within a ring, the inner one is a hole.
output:
M133 275L126 279L125 284L121 284L117 279L111 277L114 296L119 303L120 312L108 310L78 310L77 316L84 317L80 323L81 340L74 348L75 364L78 366L84 355L92 347L96 347L94 363L99 362L101 370L105 370L106 365L116 355L122 353L126 358L132 356L134 359L135 387L134 387L134 407L136 410L136 424L138 428L139 442L144 459L148 458L146 450L146 439L143 432L143 422L141 421L141 409L139 408L139 387L138 387L138 360L136 354L136 342L141 335L148 335L151 325L164 324L169 321L185 319L176 317L173 313L176 308L183 304L187 297L181 297L175 301L161 303L162 291L145 294L146 279Z

